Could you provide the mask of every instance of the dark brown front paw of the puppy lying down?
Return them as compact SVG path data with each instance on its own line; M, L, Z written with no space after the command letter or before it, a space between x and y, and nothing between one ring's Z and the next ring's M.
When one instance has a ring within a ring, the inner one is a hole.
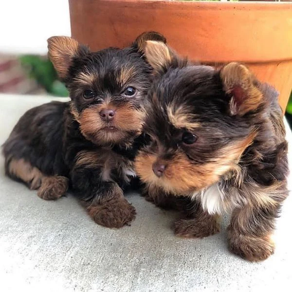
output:
M93 220L109 228L121 228L135 219L135 208L124 198L113 199L97 206L88 207Z

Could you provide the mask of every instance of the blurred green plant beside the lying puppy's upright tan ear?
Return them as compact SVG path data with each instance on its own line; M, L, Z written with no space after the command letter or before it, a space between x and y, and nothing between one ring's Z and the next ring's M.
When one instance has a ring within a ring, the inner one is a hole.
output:
M56 96L68 96L65 85L58 80L57 73L51 61L43 56L23 55L19 57L30 78L33 78L48 93Z

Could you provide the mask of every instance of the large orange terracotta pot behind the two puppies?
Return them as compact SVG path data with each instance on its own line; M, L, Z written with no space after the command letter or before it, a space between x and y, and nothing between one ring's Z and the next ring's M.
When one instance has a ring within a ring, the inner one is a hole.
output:
M72 36L91 49L127 46L158 31L179 54L204 63L239 61L280 92L292 89L292 3L69 0Z

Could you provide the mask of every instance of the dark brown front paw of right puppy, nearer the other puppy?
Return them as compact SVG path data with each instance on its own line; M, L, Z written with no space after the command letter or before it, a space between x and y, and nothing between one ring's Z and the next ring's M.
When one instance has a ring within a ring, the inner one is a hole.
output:
M174 233L180 237L207 237L220 231L216 219L201 221L200 219L179 219L174 224Z

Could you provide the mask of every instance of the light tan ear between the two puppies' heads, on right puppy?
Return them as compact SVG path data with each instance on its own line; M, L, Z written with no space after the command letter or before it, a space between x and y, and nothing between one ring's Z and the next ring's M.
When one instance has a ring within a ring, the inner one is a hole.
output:
M159 41L147 40L145 45L145 56L150 66L159 72L171 63L171 53L168 47Z

